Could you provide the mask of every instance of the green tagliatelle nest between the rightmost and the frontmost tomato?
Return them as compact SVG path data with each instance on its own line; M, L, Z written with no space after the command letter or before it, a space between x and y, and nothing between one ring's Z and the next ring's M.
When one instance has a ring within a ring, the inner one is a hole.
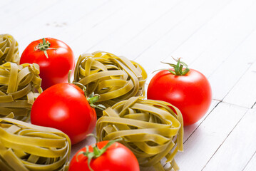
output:
M174 156L183 151L183 117L170 103L142 97L123 100L103 111L96 133L99 140L123 138L121 143L133 151L141 167L178 170ZM160 163L164 159L165 168Z

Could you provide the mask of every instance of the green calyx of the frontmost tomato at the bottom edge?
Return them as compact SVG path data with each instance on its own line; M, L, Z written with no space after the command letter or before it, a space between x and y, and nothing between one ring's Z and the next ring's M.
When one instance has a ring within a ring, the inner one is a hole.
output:
M91 147L93 147L93 152L90 152L89 151L89 146L86 145L86 151L81 151L81 152L78 152L78 154L76 155L76 161L78 162L78 155L84 155L86 156L88 159L87 159L87 162L88 162L88 167L91 171L93 171L93 169L91 168L91 160L92 159L95 159L95 158L98 158L98 157L101 157L101 155L103 155L104 152L106 152L106 150L108 150L108 147L110 147L111 145L113 145L113 143L115 142L118 142L120 140L122 140L122 138L118 138L116 140L110 140L108 141L108 143L102 147L101 149L98 148L98 138L96 137L96 135L94 134L88 134L87 136L93 136L94 138L96 138L96 144L95 145L92 145Z

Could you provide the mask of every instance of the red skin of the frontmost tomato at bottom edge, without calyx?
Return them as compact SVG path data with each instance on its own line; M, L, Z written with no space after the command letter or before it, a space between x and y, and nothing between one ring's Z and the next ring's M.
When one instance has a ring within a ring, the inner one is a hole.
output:
M98 142L97 145L101 149L104 147L108 141ZM86 147L83 147L78 152L86 152ZM91 145L89 146L89 151L93 152ZM76 152L76 155L78 154ZM73 156L71 163L69 165L68 171L90 171L88 167L87 157L83 154L78 155L78 161L76 160L76 155ZM131 152L128 147L122 145L119 142L114 142L108 150L103 153L100 157L91 160L91 168L94 171L139 171L140 167L138 165L138 160L136 159L133 152Z

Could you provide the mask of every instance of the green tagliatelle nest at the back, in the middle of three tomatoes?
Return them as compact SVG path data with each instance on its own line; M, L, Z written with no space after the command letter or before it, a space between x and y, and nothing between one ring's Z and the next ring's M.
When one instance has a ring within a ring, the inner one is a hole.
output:
M88 94L100 95L106 107L133 96L144 95L147 73L138 63L123 56L97 51L79 56L74 81L86 86Z

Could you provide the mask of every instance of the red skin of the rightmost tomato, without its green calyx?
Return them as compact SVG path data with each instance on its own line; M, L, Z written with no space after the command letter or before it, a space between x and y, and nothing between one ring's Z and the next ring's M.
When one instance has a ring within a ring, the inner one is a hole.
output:
M163 70L153 76L147 96L148 99L164 100L179 108L186 126L196 123L208 111L212 90L208 79L199 71L190 69L185 76L175 76Z

